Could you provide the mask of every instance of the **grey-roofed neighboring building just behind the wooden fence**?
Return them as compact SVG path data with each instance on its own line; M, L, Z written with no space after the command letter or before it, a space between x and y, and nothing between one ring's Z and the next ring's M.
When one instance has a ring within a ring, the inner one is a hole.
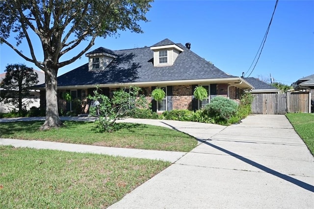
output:
M247 82L249 82L250 84L253 85L253 89L247 90L247 92L250 92L252 94L278 94L281 92L280 89L269 85L268 83L263 82L262 80L258 79L258 78L253 78L253 77L249 77L249 78L244 78Z

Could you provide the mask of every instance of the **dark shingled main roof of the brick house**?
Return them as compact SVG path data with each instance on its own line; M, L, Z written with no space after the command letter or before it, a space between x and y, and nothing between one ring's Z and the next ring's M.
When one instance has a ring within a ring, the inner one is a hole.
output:
M173 44L173 42L165 39L153 46L168 44ZM221 71L182 44L176 45L184 51L179 54L172 66L154 67L154 52L149 47L112 51L117 58L105 70L88 71L88 63L86 63L59 76L58 86L238 78ZM95 51L92 52L95 53Z

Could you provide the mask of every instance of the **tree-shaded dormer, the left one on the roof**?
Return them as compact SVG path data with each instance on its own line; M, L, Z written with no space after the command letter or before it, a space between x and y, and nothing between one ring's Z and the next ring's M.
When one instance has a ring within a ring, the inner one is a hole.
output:
M100 47L92 52L88 52L85 56L88 57L89 71L105 70L111 61L118 57L115 52L103 47Z

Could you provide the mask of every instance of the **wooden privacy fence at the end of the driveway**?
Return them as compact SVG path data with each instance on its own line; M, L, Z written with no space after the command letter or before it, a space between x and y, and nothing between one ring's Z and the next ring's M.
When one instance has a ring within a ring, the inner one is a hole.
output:
M309 112L309 92L253 94L253 96L253 114L286 114L287 112Z

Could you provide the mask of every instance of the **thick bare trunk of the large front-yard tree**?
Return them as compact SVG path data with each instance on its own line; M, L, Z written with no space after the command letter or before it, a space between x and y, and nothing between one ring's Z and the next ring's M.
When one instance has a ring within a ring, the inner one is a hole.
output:
M40 130L49 130L59 128L63 124L60 121L58 113L58 98L57 98L57 69L47 67L45 71L46 83L46 120L40 127Z

